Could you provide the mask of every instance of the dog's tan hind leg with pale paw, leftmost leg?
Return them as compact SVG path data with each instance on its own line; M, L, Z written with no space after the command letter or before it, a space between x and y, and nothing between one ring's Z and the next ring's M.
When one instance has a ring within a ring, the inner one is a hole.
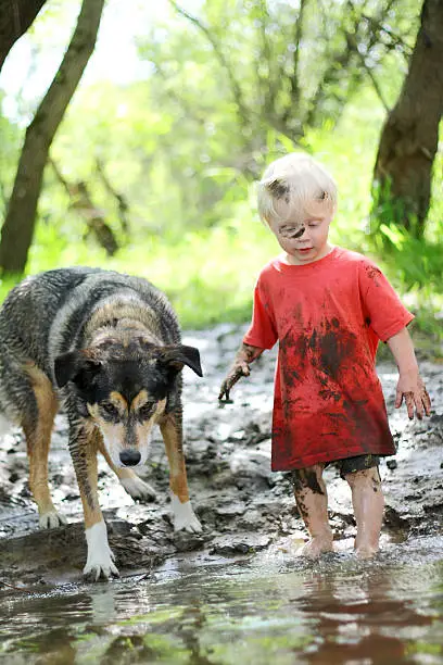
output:
M58 401L51 381L41 369L31 363L26 364L24 369L33 393L28 394L26 410L22 410L22 427L29 457L29 489L37 503L40 527L52 529L66 524L65 517L56 512L52 503L48 486L48 454Z

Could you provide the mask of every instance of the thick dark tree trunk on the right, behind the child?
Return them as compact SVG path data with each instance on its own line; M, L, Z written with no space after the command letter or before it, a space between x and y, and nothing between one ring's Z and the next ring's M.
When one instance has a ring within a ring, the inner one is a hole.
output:
M442 113L443 0L425 0L409 71L381 131L374 172L374 228L394 222L422 235Z

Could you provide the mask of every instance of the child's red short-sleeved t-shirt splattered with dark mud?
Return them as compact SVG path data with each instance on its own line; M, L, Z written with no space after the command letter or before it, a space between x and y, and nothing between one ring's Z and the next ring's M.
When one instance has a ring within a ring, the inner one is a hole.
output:
M264 267L243 341L261 349L279 341L273 470L395 452L376 352L413 318L356 252L336 247L313 263L275 259Z

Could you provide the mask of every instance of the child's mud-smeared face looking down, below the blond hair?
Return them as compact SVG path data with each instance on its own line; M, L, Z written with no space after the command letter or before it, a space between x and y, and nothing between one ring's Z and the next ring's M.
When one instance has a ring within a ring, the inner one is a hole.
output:
M318 203L311 213L301 213L288 210L287 205L284 210L284 203L277 201L275 209L279 218L271 218L268 224L287 253L288 263L313 263L329 253L328 235L333 212L328 206Z

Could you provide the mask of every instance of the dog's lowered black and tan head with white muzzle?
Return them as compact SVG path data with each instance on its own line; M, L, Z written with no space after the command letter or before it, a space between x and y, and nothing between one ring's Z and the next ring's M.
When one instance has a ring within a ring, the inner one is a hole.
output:
M98 425L115 466L136 466L147 461L152 427L174 401L185 365L203 376L194 347L107 340L59 355L54 374L60 388L71 382L79 414Z

